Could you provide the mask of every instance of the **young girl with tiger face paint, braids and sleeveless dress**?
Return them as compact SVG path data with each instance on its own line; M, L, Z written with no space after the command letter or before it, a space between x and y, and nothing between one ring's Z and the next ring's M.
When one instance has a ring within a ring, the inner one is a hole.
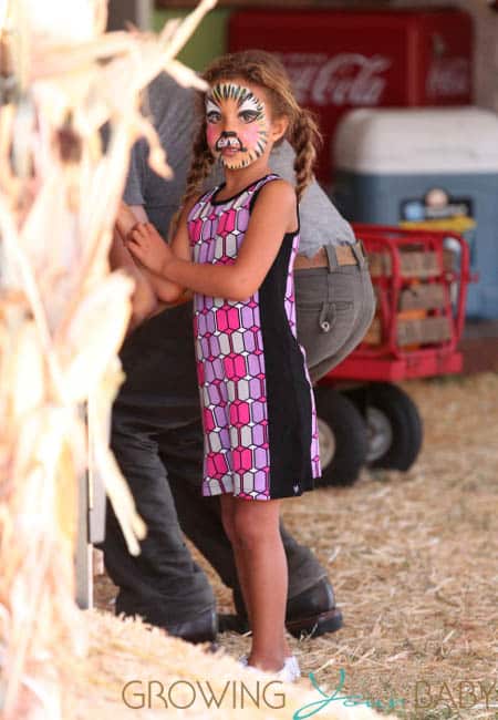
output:
M204 495L220 495L252 629L249 666L299 677L284 637L287 563L280 498L320 475L313 394L295 339L292 265L297 202L310 182L319 133L282 65L246 51L214 62L177 229L170 247L138 224L126 244L175 301L195 292L194 332L204 408ZM271 174L288 137L297 189ZM225 183L203 194L214 161ZM264 502L262 502L264 501Z

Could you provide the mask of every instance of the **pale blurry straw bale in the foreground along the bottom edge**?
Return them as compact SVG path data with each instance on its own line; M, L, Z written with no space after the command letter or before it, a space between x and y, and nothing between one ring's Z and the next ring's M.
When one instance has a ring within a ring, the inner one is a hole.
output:
M207 652L141 620L98 611L86 613L84 620L90 652L72 666L64 718L158 720L167 714L199 720L289 720L301 717L295 713L309 703L315 703L317 717L324 720L381 718L364 704L331 701L326 706L308 679L281 683L269 673L247 670L224 650Z

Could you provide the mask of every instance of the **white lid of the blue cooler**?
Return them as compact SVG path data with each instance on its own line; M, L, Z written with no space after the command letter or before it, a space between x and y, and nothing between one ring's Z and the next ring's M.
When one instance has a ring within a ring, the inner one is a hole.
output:
M498 115L468 106L354 110L333 152L336 168L359 173L496 173Z

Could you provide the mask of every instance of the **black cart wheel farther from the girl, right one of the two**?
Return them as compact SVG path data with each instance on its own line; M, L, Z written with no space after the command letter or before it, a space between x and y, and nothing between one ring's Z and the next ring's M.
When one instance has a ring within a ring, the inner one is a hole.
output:
M413 400L388 382L373 382L367 389L366 428L370 467L408 470L421 448L423 426Z

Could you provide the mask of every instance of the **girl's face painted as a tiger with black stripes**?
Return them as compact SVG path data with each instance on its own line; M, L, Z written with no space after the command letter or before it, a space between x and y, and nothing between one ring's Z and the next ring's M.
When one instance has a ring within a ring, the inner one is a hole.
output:
M264 102L252 90L219 83L206 96L209 150L229 169L240 169L264 153L268 143Z

